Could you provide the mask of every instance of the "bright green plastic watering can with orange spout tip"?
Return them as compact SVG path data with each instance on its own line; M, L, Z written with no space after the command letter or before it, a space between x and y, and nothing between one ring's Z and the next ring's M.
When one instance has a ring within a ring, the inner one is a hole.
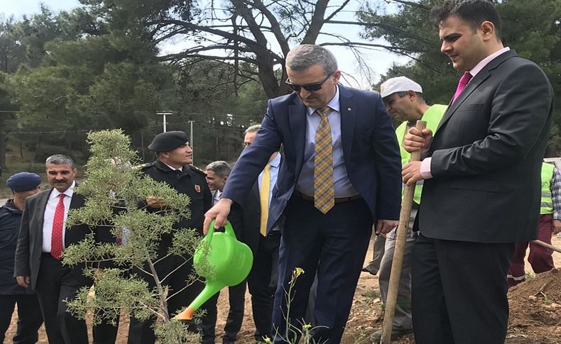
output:
M176 319L190 320L193 312L220 289L240 284L249 274L251 265L254 263L254 255L251 253L251 249L248 245L236 239L234 229L229 222L226 223L224 229L224 233L214 233L214 220L212 220L207 235L195 250L193 266L197 274L205 277L205 289L202 289L199 296L187 306L185 311L175 316ZM214 276L212 277L206 276L206 272L201 271L205 258L209 265L214 267Z

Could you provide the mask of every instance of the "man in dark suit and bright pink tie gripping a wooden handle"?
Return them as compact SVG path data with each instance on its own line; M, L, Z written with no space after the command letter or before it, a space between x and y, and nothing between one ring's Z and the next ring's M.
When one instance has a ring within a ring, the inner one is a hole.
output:
M407 184L425 179L413 247L415 340L503 343L514 243L538 233L553 91L537 65L503 48L489 1L445 1L435 13L441 51L464 75L435 135L412 128L404 141L409 152L426 149L422 162L403 167Z

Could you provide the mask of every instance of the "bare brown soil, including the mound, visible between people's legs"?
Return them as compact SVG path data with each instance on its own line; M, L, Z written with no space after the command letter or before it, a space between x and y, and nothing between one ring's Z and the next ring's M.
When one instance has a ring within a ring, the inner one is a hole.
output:
M552 238L552 245L561 247L561 238ZM372 245L366 255L366 262L372 257ZM561 253L553 253L555 266L561 267ZM526 271L531 272L531 267L526 264ZM540 294L540 291L543 294ZM508 293L511 307L511 316L508 321L506 344L555 344L561 343L561 272L552 270L538 274L526 282L513 287ZM227 290L220 294L218 302L217 343L221 343L222 328L226 323L228 312ZM6 338L11 338L16 330L16 313L14 312L11 326L6 333ZM356 287L353 306L347 331L345 331L342 344L371 343L369 335L381 328L383 311L378 292L378 277L362 273L359 285ZM129 321L126 316L121 317L117 343L126 343L126 333ZM251 301L246 293L246 310L244 325L239 333L238 343L254 343L254 323L251 316ZM40 329L38 343L47 344L45 331ZM6 340L6 343L10 343ZM396 344L413 344L413 335L408 335L393 341Z

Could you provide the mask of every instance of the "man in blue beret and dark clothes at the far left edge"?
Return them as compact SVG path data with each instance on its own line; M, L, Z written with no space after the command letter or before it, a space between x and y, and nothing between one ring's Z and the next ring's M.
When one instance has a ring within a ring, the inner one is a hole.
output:
M6 180L13 198L0 206L0 343L4 343L16 304L18 330L12 338L13 343L36 343L37 331L43 323L37 295L31 288L18 286L13 278L13 257L24 201L40 191L40 184L40 177L30 172L19 172Z

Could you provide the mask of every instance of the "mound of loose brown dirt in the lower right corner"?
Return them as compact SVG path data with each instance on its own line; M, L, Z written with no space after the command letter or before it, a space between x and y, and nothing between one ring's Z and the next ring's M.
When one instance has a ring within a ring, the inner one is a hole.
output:
M506 343L561 343L561 272L536 275L508 291Z

